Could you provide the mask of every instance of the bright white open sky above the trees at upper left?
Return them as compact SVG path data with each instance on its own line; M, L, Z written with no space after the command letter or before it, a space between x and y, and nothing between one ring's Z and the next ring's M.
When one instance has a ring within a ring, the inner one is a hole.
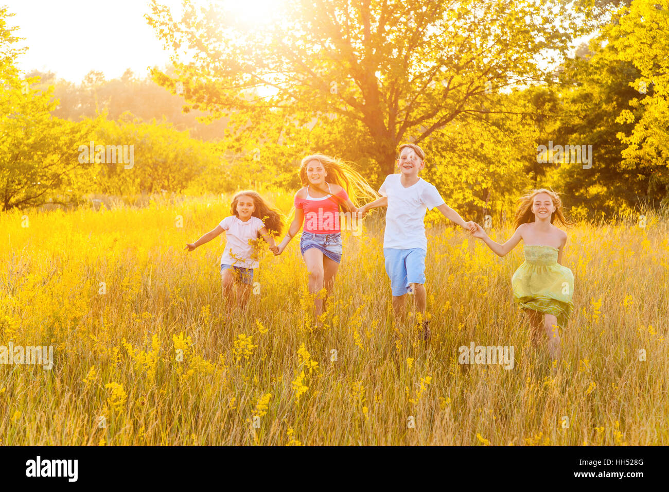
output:
M56 72L58 78L81 82L90 70L105 78L120 77L126 68L145 76L147 67L169 63L161 42L143 17L148 0L0 0L15 13L7 21L18 26L19 46L28 50L19 69ZM180 0L161 0L179 8ZM174 11L174 9L172 9Z

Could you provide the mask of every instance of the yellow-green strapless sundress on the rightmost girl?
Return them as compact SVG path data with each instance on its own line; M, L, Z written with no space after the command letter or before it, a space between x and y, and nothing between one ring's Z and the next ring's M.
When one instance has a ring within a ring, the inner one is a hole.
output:
M522 309L554 315L563 328L574 309L574 274L557 262L558 252L553 246L524 246L525 261L511 277L511 287Z

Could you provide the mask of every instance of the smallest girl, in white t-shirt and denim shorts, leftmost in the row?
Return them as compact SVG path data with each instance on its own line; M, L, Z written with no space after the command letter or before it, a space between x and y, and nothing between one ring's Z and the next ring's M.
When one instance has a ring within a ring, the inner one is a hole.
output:
M237 193L230 209L231 216L194 243L186 244L185 249L193 251L225 231L225 250L221 256L223 296L229 299L234 289L237 303L243 307L251 294L254 269L258 268L258 252L254 246L262 237L276 254L278 247L272 236L281 234L283 218L256 191Z

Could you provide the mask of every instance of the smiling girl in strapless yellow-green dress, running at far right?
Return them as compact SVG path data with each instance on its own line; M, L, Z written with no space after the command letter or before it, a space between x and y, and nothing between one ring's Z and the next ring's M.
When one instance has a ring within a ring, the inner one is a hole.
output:
M553 226L553 222L557 220L562 226L573 224L562 213L560 197L548 189L533 189L518 203L515 232L504 244L490 239L478 224L474 224L472 234L499 256L515 248L522 239L525 261L511 278L514 301L528 313L535 340L542 329L548 335L549 353L557 359L559 329L564 329L574 308L571 302L574 275L561 264L567 233Z

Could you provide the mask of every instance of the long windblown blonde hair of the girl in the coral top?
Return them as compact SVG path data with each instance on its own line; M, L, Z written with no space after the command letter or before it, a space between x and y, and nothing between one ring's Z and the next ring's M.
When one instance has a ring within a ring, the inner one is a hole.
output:
M360 207L360 199L377 199L377 197L379 197L377 192L374 191L369 183L367 183L365 178L362 177L358 171L353 169L349 163L337 159L336 157L329 157L328 155L323 154L307 155L302 159L299 171L302 186L311 184L312 187L315 187L312 183L309 183L309 180L306 177L306 165L310 163L310 161L318 161L323 165L326 173L328 173L326 177L327 182L343 187L356 208ZM323 193L328 193L328 190L326 189L315 188ZM347 208L343 199L334 195L334 193L332 193L332 196L337 199L340 208Z

